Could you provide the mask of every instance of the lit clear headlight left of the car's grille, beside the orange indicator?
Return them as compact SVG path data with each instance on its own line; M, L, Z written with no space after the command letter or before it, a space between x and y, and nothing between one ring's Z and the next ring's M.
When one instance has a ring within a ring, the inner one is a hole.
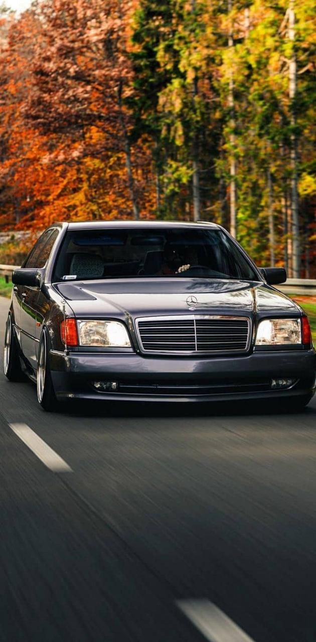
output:
M80 345L130 348L125 325L119 321L78 321Z

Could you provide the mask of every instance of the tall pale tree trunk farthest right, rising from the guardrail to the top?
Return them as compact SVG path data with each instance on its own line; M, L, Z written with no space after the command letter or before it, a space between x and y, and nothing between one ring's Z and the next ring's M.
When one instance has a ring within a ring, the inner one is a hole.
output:
M295 41L295 13L294 13L294 0L290 0L288 10L288 38L291 42ZM291 157L291 211L292 211L292 236L293 236L293 276L294 279L299 278L300 275L300 242L299 242L299 196L297 189L297 136L295 133L296 114L295 114L295 96L296 96L296 83L297 83L297 64L295 51L293 49L292 57L289 65L289 84L290 84L290 108L291 108L291 142L290 142L290 157Z

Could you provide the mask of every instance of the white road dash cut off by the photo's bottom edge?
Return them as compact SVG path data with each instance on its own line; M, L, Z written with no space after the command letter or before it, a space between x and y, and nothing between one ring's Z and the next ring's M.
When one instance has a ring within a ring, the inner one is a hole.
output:
M210 642L254 642L209 600L177 600L176 603Z

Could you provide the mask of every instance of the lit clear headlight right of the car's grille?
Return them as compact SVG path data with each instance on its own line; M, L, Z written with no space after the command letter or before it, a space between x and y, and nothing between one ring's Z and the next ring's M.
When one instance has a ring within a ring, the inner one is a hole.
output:
M256 345L302 343L301 319L264 319L259 322Z

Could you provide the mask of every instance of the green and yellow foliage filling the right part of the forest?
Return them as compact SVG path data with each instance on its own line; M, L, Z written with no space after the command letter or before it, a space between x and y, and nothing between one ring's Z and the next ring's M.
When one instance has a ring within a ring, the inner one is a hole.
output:
M160 215L181 216L184 206L191 216L197 153L201 216L228 225L229 160L234 155L238 239L261 263L270 257L269 198L277 261L282 263L285 252L283 202L290 198L294 131L304 236L313 239L315 226L315 5L303 0L295 6L294 42L288 39L287 9L286 0L235 1L231 13L227 4L213 1L141 0L133 35L138 126L155 140ZM233 48L227 46L229 31ZM298 74L291 104L288 64L293 55ZM292 109L295 130L290 124Z

